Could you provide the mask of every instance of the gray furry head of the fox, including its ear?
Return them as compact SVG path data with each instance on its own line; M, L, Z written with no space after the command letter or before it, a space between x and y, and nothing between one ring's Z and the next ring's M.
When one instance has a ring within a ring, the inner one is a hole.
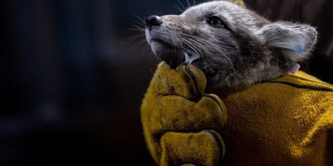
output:
M217 16L223 28L207 23ZM273 79L306 59L316 43L316 29L291 22L270 22L227 1L212 1L181 15L161 16L162 24L146 29L152 51L169 65L185 61L184 49L200 55L209 86L237 87Z

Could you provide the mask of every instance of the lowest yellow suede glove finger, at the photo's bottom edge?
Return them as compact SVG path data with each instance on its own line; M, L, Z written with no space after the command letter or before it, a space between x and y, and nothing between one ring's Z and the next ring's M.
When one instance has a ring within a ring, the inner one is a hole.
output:
M224 141L215 131L167 132L161 138L160 165L218 165L224 153Z

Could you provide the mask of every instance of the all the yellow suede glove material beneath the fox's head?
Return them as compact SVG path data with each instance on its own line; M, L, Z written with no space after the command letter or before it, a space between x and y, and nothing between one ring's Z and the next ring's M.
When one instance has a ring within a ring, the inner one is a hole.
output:
M159 64L141 106L159 165L332 165L333 86L302 71L228 95L205 86L191 64Z

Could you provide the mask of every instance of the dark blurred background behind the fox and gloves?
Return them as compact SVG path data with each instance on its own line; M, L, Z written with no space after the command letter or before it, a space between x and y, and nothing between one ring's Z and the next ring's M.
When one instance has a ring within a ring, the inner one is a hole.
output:
M302 69L333 82L333 1L245 3L271 20L316 26L319 43ZM0 5L0 165L153 165L139 108L158 61L146 42L138 44L144 37L127 39L140 35L130 30L143 27L136 15L180 14L175 6L182 6L176 0Z

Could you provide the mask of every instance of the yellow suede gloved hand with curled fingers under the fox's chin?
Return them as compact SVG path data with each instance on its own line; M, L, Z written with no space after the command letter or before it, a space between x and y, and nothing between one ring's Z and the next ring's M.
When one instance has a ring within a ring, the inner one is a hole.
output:
M204 94L206 77L186 64L158 65L141 105L145 140L159 165L217 165L225 145L219 134L227 121L225 104Z

